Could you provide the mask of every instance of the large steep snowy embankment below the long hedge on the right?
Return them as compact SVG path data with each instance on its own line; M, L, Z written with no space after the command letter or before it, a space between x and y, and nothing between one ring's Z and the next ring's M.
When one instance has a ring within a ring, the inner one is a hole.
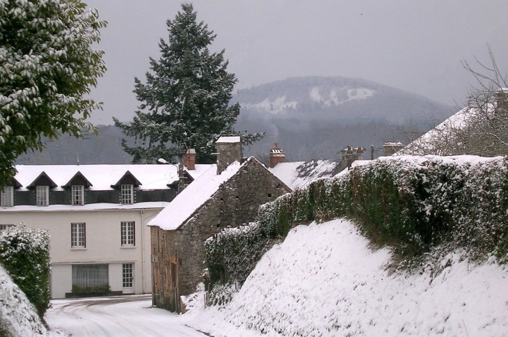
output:
M459 254L430 274L390 273L347 220L298 226L267 252L225 308L182 317L213 336L506 336L508 269Z

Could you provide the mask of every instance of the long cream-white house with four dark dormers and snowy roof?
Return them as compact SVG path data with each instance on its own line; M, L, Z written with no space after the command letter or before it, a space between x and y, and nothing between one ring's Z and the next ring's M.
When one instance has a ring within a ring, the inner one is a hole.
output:
M18 165L0 194L0 230L24 223L49 230L51 298L72 289L152 291L146 226L209 165L182 179L176 165Z

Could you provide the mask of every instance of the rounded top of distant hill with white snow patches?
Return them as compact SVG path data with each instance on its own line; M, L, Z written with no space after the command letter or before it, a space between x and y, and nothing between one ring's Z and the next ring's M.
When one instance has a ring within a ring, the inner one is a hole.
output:
M444 119L453 107L427 97L347 77L292 77L237 92L241 104L239 123L251 119L299 118L301 120L425 120Z

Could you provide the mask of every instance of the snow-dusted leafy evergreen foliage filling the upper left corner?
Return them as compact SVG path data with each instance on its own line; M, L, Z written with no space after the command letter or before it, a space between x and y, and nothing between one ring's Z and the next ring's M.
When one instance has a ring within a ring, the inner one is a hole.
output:
M106 71L91 48L104 26L79 0L0 1L0 189L42 136L97 132L85 120L102 103L83 96Z

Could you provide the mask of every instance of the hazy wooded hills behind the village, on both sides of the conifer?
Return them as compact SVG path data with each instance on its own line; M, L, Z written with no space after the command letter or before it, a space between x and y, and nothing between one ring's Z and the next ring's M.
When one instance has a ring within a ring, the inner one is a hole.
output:
M402 123L411 120L427 132L433 118L440 122L457 111L415 93L346 77L292 77L240 90L232 102L241 104L236 130L267 132L244 147L244 155L265 163L273 143L285 150L288 161L340 159L345 146L368 149L371 144L378 157L384 141L405 141L399 134ZM113 125L98 127L98 136L47 141L42 153L22 155L16 164L77 164L78 158L80 164L129 163L132 157L121 142L125 138L132 146L134 137ZM370 158L370 151L364 157Z

